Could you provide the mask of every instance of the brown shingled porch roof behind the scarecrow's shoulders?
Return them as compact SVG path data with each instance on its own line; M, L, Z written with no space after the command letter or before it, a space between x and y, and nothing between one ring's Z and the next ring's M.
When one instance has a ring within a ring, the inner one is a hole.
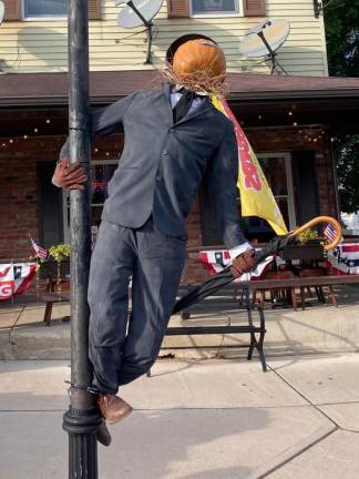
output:
M91 102L109 103L161 82L151 70L91 72ZM238 102L353 99L359 102L359 79L337 77L270 77L229 73L229 100ZM53 106L68 103L66 73L6 73L0 77L0 108Z

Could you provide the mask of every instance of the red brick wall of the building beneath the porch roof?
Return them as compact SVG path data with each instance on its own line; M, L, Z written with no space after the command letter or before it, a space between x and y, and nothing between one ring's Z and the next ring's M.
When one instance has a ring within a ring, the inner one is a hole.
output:
M309 134L309 133L308 133ZM335 182L331 170L328 139L306 140L307 130L248 130L248 140L259 152L290 152L312 150L319 184L320 214L337 216ZM0 143L0 261L27 259L31 254L28 232L39 238L39 185L37 162L55 161L64 137L38 136L2 139ZM7 146L3 147L2 143ZM93 159L119 156L122 145L120 135L101 139L93 145ZM187 220L189 258L184 272L184 282L198 283L207 277L196 257L196 247L202 244L199 201L196 198Z

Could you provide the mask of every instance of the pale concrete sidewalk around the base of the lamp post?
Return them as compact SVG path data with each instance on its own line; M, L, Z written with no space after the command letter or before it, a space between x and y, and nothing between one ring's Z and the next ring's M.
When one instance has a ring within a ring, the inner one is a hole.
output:
M158 360L99 447L101 479L357 479L359 355ZM1 478L63 479L68 361L0 363ZM6 434L4 434L6 432Z

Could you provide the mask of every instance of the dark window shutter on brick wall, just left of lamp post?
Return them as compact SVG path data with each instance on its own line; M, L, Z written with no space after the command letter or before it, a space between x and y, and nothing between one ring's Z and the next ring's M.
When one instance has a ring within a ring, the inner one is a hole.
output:
M49 247L63 242L62 190L51 183L53 162L38 163L40 193L40 244Z

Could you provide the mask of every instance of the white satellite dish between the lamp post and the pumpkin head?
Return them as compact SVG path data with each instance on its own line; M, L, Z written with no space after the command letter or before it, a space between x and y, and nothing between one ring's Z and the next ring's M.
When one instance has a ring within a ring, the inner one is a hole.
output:
M145 63L151 61L151 48L153 37L152 19L157 14L162 7L163 0L116 0L116 7L125 3L122 12L119 14L117 23L125 29L145 26L147 30L147 58Z

